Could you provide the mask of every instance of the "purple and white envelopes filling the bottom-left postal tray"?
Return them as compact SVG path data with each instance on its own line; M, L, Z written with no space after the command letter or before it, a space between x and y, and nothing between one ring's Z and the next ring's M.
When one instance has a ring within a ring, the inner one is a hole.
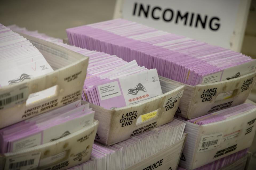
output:
M94 111L81 100L0 130L0 152L17 152L74 133L93 123Z

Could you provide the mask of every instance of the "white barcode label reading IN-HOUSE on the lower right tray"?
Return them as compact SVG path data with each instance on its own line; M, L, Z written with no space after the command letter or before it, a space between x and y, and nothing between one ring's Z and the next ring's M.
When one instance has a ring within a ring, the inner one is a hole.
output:
M223 133L215 133L210 135L203 135L198 146L197 152L204 152L212 150L219 146Z

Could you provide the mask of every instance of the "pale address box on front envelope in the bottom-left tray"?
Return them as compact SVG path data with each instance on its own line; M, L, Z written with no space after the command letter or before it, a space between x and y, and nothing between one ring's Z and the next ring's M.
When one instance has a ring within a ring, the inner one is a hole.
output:
M26 149L26 148L30 148L38 145L41 145L41 133L13 142L12 152L17 152L22 149Z

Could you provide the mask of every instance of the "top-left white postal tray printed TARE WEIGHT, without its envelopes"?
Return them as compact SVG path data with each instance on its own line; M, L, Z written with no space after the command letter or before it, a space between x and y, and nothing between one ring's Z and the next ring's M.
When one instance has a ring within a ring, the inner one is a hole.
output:
M19 101L0 107L0 129L81 99L89 57L62 46L21 34L43 54L54 71L0 88L0 96L23 94ZM26 105L29 94L57 85L55 95ZM0 97L1 98L1 97Z

